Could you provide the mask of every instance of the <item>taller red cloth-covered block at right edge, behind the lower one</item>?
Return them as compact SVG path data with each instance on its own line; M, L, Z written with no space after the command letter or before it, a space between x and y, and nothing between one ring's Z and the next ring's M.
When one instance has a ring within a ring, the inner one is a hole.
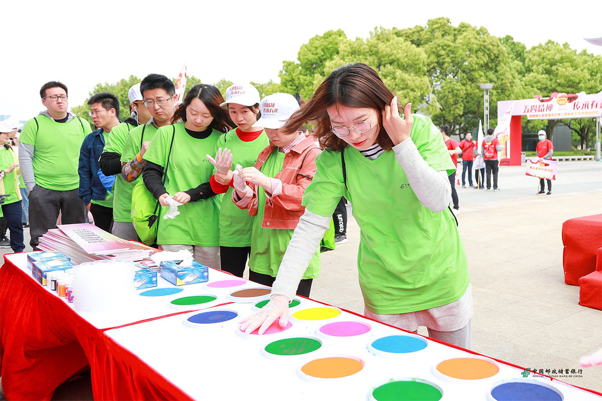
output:
M577 286L580 278L595 271L596 252L602 246L602 214L563 222L562 243L565 283Z

